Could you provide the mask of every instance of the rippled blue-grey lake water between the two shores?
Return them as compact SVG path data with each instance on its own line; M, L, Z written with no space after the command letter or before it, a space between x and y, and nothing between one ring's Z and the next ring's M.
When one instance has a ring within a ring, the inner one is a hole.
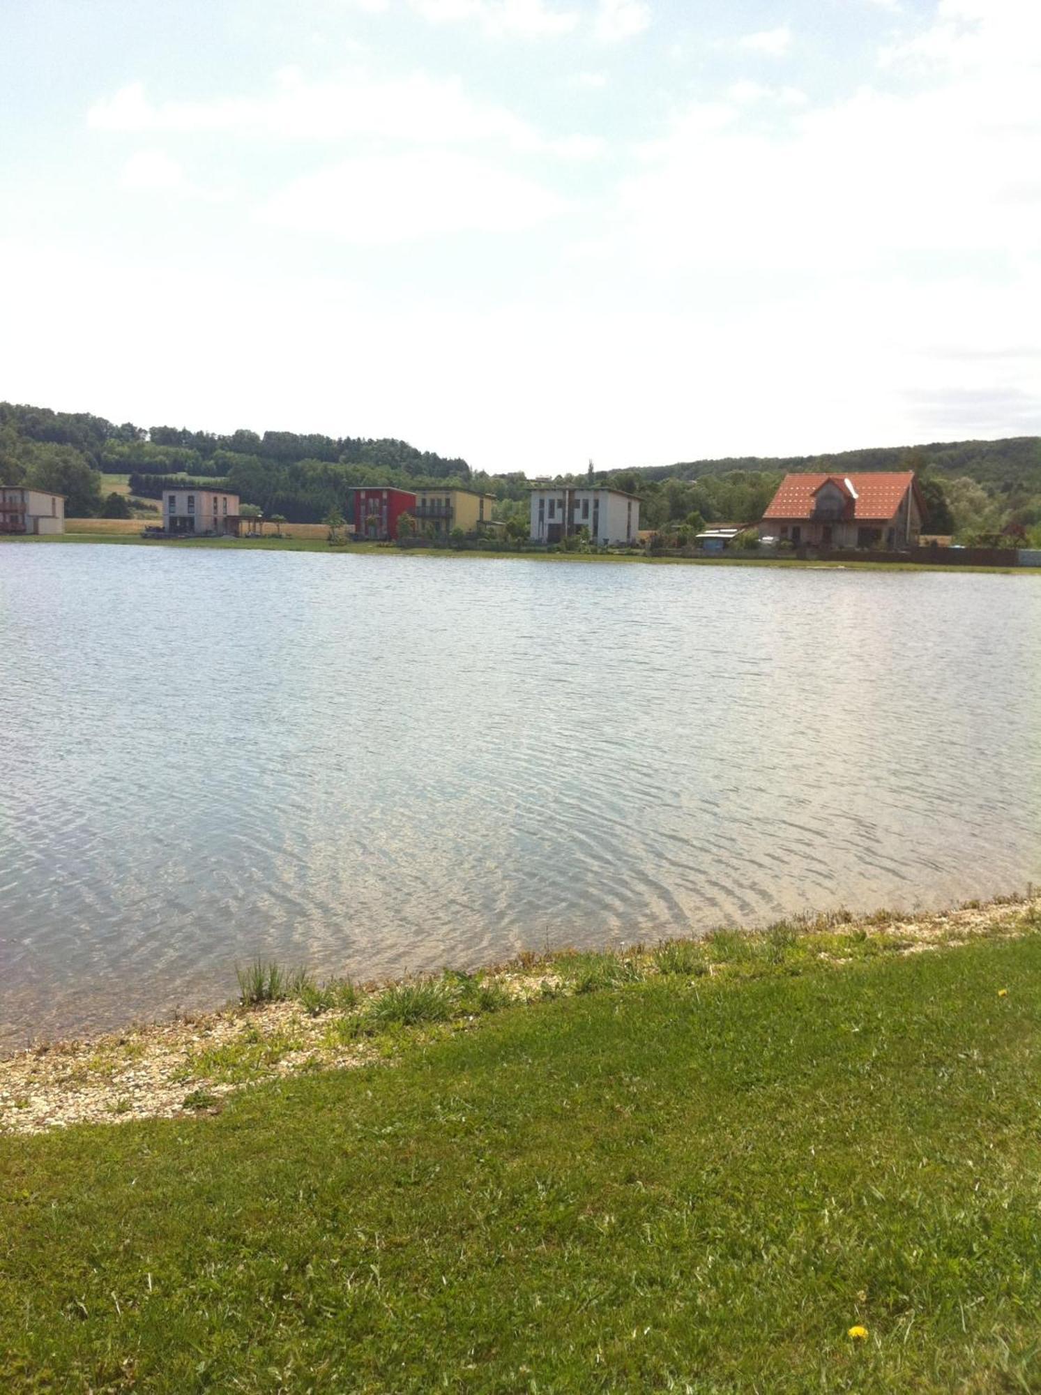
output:
M1034 576L0 545L0 1043L1041 880Z

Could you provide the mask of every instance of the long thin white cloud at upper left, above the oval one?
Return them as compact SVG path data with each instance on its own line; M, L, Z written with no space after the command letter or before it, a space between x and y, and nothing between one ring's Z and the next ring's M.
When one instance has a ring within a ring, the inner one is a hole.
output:
M543 137L505 107L467 96L456 78L416 73L373 78L354 71L335 81L308 81L297 68L278 74L262 96L218 96L194 102L152 102L144 84L130 82L95 102L87 114L95 130L130 134L223 133L285 141L342 141L373 137L417 145L495 141L516 151L564 158L596 153L589 137Z

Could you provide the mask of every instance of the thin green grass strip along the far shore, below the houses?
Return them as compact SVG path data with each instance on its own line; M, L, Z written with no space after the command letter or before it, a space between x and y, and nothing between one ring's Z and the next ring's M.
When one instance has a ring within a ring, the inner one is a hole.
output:
M1019 566L1010 562L1008 566L975 566L950 562L829 562L811 561L797 557L654 557L639 552L511 552L511 551L481 551L480 548L452 548L452 547L417 547L402 548L381 543L336 543L329 544L318 538L301 537L193 537L193 538L152 538L138 537L130 533L53 533L39 537L0 537L0 544L13 543L47 543L47 544L113 544L117 547L172 547L172 548L218 548L220 551L267 551L267 552L320 552L327 557L399 557L412 559L444 559L456 561L470 558L473 561L509 561L509 562L574 562L586 564L614 564L628 566L772 566L772 568L802 568L825 572L966 572L984 573L991 576L1041 576L1041 566Z

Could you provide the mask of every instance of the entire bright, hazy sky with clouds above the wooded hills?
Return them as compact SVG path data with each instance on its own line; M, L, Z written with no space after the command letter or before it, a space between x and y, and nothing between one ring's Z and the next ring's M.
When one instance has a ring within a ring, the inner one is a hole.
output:
M1041 432L1037 0L4 0L0 398L527 474Z

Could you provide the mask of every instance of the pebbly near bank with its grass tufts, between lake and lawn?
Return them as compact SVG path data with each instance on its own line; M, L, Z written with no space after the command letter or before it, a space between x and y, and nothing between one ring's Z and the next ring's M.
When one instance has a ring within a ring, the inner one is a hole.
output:
M240 996L216 1011L177 1014L123 1032L38 1042L0 1059L0 1134L80 1123L218 1113L236 1091L306 1073L394 1062L410 1043L477 1027L509 1007L652 978L730 990L749 978L830 971L882 956L1041 933L1041 896L998 897L910 915L839 910L766 930L606 951L526 953L474 974L356 985L257 961Z

